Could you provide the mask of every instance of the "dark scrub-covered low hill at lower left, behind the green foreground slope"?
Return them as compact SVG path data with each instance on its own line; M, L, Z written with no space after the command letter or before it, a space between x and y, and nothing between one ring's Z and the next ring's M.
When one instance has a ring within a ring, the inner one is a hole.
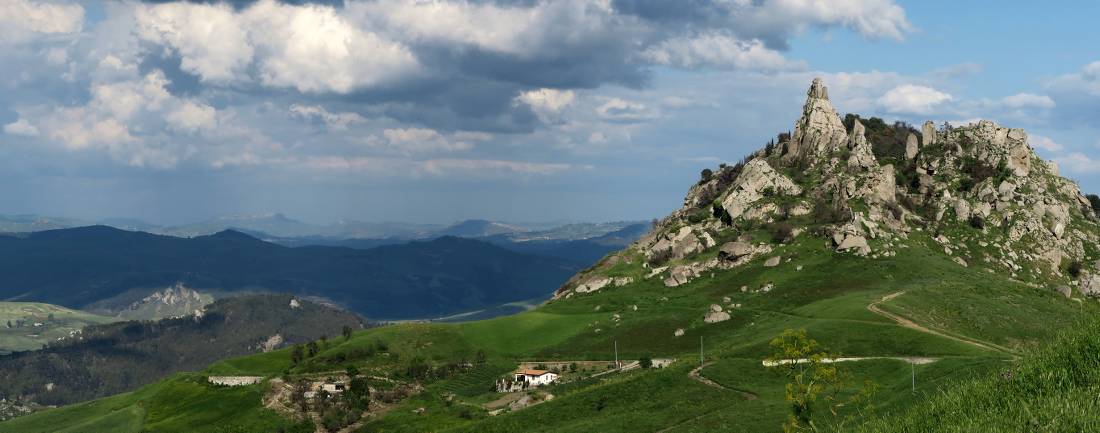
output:
M363 325L353 313L287 295L227 298L201 317L94 325L41 351L0 356L0 397L67 404Z

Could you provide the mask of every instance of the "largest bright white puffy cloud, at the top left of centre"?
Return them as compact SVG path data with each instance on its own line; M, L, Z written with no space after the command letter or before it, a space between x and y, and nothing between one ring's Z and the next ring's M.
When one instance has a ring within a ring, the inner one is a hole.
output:
M331 7L262 0L242 11L226 3L136 5L139 35L176 51L204 81L234 82L255 65L260 82L300 92L383 85L415 73L408 47L363 30Z

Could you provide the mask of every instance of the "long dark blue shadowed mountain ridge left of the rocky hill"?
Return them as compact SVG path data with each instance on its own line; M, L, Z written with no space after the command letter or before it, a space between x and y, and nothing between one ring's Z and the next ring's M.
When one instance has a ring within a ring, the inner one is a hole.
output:
M233 231L179 238L89 226L0 236L0 298L70 308L183 285L321 297L372 319L430 318L544 297L578 268L457 237L353 249L290 248Z

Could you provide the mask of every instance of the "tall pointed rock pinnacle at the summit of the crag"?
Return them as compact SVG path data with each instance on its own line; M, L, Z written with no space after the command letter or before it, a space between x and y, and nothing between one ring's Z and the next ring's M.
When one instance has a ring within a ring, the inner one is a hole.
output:
M787 145L787 160L809 158L818 160L847 141L844 123L828 100L828 89L821 78L806 92L806 103L802 116L794 123L794 134Z

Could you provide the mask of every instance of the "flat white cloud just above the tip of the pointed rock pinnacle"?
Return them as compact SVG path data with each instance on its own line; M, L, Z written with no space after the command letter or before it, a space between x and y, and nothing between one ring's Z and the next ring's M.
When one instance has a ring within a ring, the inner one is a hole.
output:
M790 62L760 41L740 41L717 32L670 38L649 47L641 56L658 65L686 69L714 67L774 71L805 68L804 63Z

